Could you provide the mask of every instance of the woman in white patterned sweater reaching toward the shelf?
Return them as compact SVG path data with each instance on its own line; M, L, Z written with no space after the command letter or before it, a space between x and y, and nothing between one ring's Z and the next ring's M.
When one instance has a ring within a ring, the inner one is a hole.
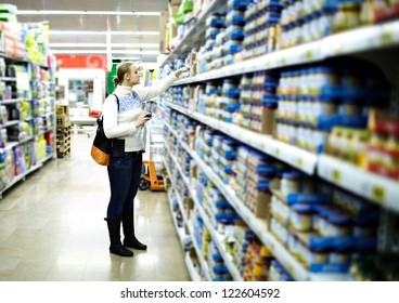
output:
M166 91L186 70L185 67L180 68L156 85L134 88L140 83L139 70L134 63L125 62L117 67L114 77L116 89L114 94L106 97L103 106L105 135L108 139L118 139L119 149L123 149L120 155L111 158L108 166L111 199L105 220L111 253L132 256L133 253L126 247L146 249L146 246L136 238L133 215L133 200L139 188L144 149L143 126L151 119L150 113L142 110L142 103ZM120 242L120 222L125 235L124 245Z

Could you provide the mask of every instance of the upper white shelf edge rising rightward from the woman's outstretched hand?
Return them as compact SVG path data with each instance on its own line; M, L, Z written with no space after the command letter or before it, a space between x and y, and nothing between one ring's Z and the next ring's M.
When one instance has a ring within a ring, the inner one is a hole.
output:
M308 64L338 55L353 54L397 44L399 44L398 21L370 25L181 79L176 81L173 85L203 82L297 64Z

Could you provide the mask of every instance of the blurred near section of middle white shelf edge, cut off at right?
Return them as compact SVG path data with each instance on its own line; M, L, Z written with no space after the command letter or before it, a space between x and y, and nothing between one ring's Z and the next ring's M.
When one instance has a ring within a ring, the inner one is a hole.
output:
M319 156L318 175L386 209L399 212L399 183L327 155Z

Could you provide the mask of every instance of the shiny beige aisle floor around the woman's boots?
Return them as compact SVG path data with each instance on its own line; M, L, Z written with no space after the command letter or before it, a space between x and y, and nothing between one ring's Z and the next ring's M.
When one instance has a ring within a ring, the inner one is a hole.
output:
M107 175L89 158L91 141L74 135L69 157L0 200L0 280L190 280L164 193L140 192L136 203L149 250L108 253Z

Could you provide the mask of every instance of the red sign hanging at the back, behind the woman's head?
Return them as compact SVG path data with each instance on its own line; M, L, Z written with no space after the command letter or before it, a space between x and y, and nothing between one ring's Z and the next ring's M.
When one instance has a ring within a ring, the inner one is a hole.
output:
M55 55L60 68L101 68L106 71L106 55Z

